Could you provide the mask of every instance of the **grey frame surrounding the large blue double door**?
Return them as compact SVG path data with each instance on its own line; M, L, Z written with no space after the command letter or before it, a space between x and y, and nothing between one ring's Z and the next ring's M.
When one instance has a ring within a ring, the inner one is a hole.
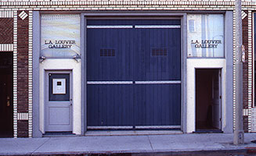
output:
M84 51L84 57L81 60L85 60L82 63L82 82L83 85L83 92L82 92L82 129L84 129L84 133L87 132L87 80L86 80L86 58L87 58L87 51L86 51L86 32L87 32L87 20L181 20L181 126L180 129L182 132L187 131L187 85L186 85L186 67L187 67L187 27L186 27L186 12L85 12L81 13L81 43L84 43L85 46L81 46L81 51Z

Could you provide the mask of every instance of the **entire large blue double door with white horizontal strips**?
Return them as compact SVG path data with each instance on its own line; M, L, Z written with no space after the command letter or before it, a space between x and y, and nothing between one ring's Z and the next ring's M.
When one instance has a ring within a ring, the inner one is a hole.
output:
M180 128L180 20L87 21L88 129Z

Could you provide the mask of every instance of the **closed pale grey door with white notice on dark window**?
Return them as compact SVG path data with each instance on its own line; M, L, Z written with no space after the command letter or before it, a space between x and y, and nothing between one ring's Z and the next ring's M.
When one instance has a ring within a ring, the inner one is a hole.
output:
M72 131L71 72L45 74L45 132Z

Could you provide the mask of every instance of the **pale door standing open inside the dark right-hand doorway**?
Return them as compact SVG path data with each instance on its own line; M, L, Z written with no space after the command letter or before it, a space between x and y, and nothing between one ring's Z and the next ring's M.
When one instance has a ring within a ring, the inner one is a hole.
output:
M213 126L222 129L222 70L212 76Z

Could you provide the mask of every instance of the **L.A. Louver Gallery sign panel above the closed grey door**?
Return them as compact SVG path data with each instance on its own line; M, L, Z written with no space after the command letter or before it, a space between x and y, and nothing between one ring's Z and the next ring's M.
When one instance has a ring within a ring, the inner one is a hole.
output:
M80 55L79 15L41 16L41 55L53 58L70 58Z

